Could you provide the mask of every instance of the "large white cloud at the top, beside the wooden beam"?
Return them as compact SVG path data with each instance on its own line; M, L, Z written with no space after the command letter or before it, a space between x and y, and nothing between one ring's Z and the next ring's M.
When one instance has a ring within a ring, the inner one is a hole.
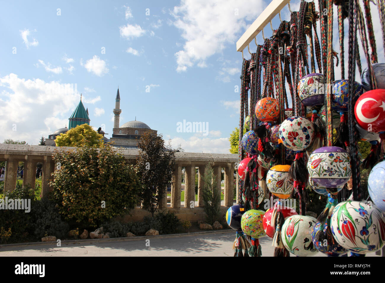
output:
M248 27L245 19L255 20L264 5L261 0L182 1L171 13L185 40L183 50L175 53L176 70L186 71L195 64L206 67L206 59L234 44Z

